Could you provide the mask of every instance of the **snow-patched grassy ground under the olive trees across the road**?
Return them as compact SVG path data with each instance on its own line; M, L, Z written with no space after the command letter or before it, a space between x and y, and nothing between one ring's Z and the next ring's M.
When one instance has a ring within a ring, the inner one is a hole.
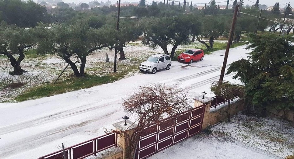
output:
M234 44L233 47L243 45L244 42ZM201 48L206 54L213 51L225 49L225 42L215 42L211 50L204 49L205 46L199 42L186 46L179 46L175 57L186 48ZM171 46L168 47L171 49ZM56 84L53 84L59 73L67 65L60 57L54 54L38 55L35 50L30 50L22 61L21 67L28 71L20 76L11 76L9 71L12 67L9 59L0 56L0 102L21 102L69 91L90 88L119 80L124 77L136 75L138 65L146 60L151 54L162 53L161 48L154 50L143 46L141 42L130 42L124 48L127 60L118 61L117 73L113 72L114 50L104 48L93 52L87 57L85 72L88 76L76 78L70 67L66 69ZM108 75L106 77L106 53L110 58L108 64ZM119 58L119 55L118 55ZM75 59L73 59L74 61Z

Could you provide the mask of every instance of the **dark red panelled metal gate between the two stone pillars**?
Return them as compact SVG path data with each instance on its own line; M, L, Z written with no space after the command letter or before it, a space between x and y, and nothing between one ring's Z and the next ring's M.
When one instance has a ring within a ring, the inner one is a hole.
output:
M159 151L162 151L180 141L194 136L201 131L205 105L182 112L174 117L162 120L159 124L148 126L148 134L142 134L136 158L147 158ZM164 123L168 120L176 120L171 127Z

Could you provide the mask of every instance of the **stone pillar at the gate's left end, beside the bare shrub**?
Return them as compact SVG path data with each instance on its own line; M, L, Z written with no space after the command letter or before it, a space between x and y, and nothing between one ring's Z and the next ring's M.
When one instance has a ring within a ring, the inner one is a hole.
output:
M124 125L124 121L117 122L112 124L116 128L116 131L121 133L117 134L117 145L118 147L123 149L122 159L126 158L126 142L125 142L125 133L129 136L133 134L134 129L136 128L137 124L127 120L127 125Z

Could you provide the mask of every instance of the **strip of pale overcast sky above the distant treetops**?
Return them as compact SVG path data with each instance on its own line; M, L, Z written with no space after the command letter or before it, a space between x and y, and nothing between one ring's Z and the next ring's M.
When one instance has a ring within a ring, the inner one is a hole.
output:
M64 2L66 3L71 3L71 2L74 2L74 3L89 3L89 1L93 1L93 0L63 0ZM97 0L98 2L100 2L101 0ZM107 0L102 0L102 1L107 1ZM110 0L112 2L112 4L115 4L117 0ZM125 1L128 1L128 2L139 2L140 0L121 0L121 3L122 2L125 2ZM152 3L152 0L146 0L147 2L150 2ZM154 1L160 1L160 0L154 0ZM163 1L163 0L162 0ZM175 1L179 1L179 0L175 0ZM181 1L184 1L184 0L181 0ZM189 1L189 0L188 0ZM211 0L192 0L193 3L209 3ZM226 0L215 0L216 3L217 2L222 2L222 1L225 1L223 3L218 3L220 5L225 5L227 4ZM239 0L238 0L239 1ZM249 5L253 5L254 3L250 2L250 1L253 1L253 2L256 2L256 0L244 0L244 4L249 4ZM292 0L291 0L292 1ZM191 0L189 1L191 2ZM273 6L275 4L275 2L279 2L280 5L282 4L285 4L285 3L288 3L290 2L290 0L259 0L259 4L265 4L267 6ZM148 3L147 3L148 4ZM230 4L233 4L233 1L230 1ZM291 3L290 3L291 4ZM203 4L197 4L198 6L202 6ZM281 6L282 8L284 7L285 5ZM293 6L293 4L291 5Z

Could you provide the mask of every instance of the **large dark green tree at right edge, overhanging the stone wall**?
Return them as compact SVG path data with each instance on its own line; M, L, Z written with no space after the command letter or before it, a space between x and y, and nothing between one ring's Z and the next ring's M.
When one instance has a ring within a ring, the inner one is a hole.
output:
M227 74L237 72L245 84L245 96L262 108L294 107L294 38L275 34L249 35L253 49L248 59L233 62Z

